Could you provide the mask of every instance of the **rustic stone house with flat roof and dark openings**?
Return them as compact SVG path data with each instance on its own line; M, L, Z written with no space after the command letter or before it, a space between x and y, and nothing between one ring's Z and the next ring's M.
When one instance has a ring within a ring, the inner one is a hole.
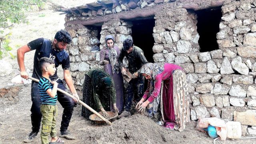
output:
M86 71L102 68L106 35L120 49L133 38L149 62L186 70L191 120L239 121L243 135L256 134L256 0L98 0L59 11L78 90Z

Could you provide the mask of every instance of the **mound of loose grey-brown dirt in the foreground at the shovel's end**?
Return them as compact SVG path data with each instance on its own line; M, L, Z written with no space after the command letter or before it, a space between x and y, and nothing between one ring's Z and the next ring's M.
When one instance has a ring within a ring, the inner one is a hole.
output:
M167 130L146 116L136 114L113 122L112 126L104 127L88 133L89 141L97 143L170 143L170 130Z

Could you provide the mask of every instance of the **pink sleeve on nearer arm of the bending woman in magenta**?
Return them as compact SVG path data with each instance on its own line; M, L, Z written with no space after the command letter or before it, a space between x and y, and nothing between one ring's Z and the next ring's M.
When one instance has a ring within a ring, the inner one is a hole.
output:
M163 72L162 72L163 73ZM154 82L154 90L152 92L152 94L150 95L150 97L148 98L149 102L153 102L153 100L158 96L158 94L160 93L160 89L161 89L161 82L162 82L162 73L156 75L156 79Z

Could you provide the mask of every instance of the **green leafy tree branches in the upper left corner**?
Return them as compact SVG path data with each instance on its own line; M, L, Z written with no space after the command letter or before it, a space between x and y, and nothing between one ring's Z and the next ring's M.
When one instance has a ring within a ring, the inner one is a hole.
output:
M8 39L11 33L6 33L6 29L12 28L13 24L26 23L25 12L31 10L33 5L42 7L44 2L46 0L0 0L0 59L12 50Z

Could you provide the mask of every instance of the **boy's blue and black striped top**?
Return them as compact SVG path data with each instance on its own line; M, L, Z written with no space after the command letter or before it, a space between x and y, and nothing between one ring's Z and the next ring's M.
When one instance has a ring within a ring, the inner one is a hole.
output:
M52 89L53 84L50 83L47 78L42 76L38 82L38 89L40 91L42 104L56 105L56 101L58 98L57 94L56 96L54 96L54 98L51 98L46 92L49 88Z

